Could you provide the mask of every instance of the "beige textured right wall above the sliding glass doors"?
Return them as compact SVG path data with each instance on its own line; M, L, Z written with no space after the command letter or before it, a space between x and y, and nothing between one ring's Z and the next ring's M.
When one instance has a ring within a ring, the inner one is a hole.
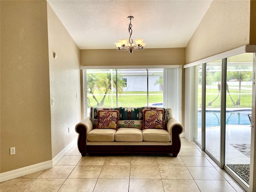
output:
M213 0L186 46L186 64L249 44L249 41L250 0Z

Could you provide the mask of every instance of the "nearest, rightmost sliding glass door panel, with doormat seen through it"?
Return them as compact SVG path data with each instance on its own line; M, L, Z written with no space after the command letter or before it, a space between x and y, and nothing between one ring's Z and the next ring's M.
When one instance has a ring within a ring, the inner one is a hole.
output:
M249 186L252 53L227 58L225 166Z

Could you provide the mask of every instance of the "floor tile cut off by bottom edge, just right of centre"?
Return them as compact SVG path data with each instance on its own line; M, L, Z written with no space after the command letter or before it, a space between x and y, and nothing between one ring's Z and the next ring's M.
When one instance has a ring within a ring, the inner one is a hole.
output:
M164 192L161 179L130 179L129 192Z

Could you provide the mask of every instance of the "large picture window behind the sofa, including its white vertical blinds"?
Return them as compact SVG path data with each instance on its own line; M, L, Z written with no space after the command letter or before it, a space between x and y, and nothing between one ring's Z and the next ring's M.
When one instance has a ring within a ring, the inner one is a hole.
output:
M87 69L84 70L85 114L88 116L93 106L164 106L174 108L180 120L180 86L180 68Z

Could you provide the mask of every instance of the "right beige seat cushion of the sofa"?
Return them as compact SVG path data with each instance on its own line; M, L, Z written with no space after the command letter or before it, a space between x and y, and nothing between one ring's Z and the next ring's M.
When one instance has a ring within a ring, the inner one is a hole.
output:
M163 129L144 129L142 136L144 141L170 142L171 140L169 132Z

